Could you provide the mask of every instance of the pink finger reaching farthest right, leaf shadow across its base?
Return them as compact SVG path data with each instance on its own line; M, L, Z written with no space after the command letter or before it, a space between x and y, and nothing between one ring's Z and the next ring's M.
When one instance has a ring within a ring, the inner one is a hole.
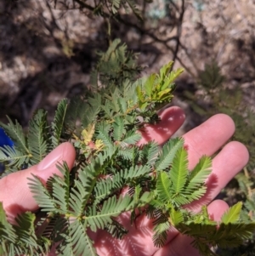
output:
M207 179L207 192L200 200L192 202L187 208L199 211L202 205L212 202L212 199L233 179L249 160L245 145L231 141L224 146L212 160L212 173Z

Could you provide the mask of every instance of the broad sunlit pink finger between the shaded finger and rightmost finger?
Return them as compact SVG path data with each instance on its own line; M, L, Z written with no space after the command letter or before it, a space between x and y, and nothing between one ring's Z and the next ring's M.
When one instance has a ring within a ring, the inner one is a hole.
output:
M203 155L212 156L235 132L235 123L224 114L218 114L184 134L188 148L189 168L194 168Z

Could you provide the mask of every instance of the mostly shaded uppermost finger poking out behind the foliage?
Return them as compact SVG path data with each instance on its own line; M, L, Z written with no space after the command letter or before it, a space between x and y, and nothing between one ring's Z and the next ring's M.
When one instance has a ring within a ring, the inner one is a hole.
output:
M148 124L140 130L143 138L139 145L155 140L159 145L165 143L184 123L184 111L177 106L172 106L161 111L161 121L156 124Z

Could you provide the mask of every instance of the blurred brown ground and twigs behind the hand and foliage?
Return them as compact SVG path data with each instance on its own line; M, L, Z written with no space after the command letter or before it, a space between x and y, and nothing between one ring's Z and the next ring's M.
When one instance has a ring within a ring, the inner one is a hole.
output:
M251 161L220 197L242 200L255 219L254 14L254 0L1 0L0 121L26 128L42 107L52 119L59 100L86 94L104 73L99 52L120 38L116 77L149 75L170 60L184 67L173 100L187 116L178 135L218 112L234 119L233 139ZM238 253L248 247L255 255L252 240Z

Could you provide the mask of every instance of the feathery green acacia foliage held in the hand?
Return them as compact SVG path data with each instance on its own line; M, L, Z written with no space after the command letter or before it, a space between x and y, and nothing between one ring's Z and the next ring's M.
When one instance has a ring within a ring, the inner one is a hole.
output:
M65 162L57 166L63 179L54 175L46 186L37 176L29 179L40 214L22 213L10 225L0 204L1 255L40 255L53 247L59 255L97 255L89 231L104 229L124 238L128 230L116 217L127 211L130 221L143 212L154 219L152 239L158 247L172 226L193 237L203 255L214 255L211 245L236 246L252 235L255 224L241 219L241 203L229 208L221 223L209 218L206 206L201 213L185 208L207 192L209 157L201 157L190 172L183 139L170 139L161 150L154 141L137 144L138 130L159 122L157 110L173 99L174 80L183 70L170 71L172 65L119 88L61 100L51 125L47 113L37 111L27 134L17 122L2 124L14 140L13 148L0 151L6 165L2 177L40 162L62 141L75 146L77 158L71 174Z

